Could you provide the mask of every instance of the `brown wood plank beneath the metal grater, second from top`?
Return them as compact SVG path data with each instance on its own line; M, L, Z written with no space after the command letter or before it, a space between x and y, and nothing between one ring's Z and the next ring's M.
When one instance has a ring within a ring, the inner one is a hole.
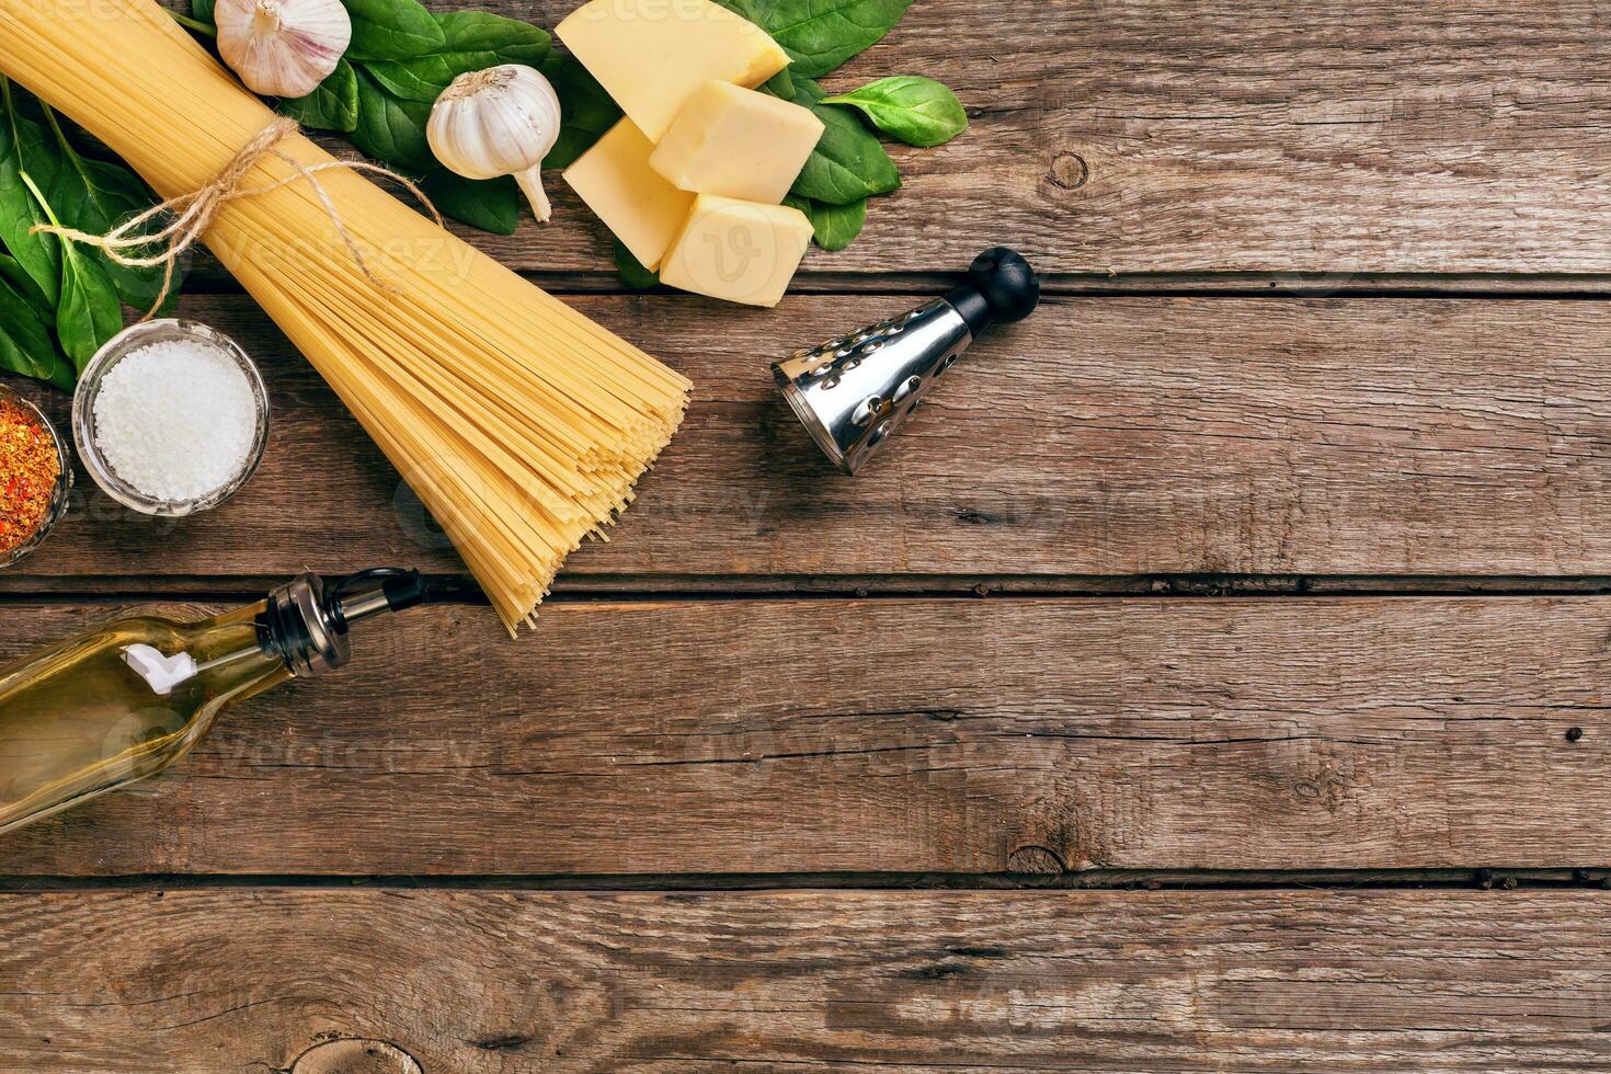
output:
M617 539L575 556L574 578L1611 573L1611 328L1597 304L1054 299L983 341L852 481L818 461L767 364L910 298L720 314L574 301L699 385ZM263 470L177 523L130 517L81 475L72 517L8 588L459 570L250 299L197 296L185 312L266 366Z

